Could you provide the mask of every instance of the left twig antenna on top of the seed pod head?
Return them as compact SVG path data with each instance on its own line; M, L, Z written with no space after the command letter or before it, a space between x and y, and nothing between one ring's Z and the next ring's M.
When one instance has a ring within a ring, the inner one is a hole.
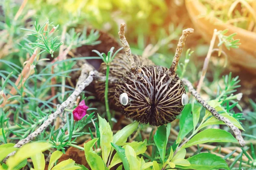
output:
M119 34L120 41L122 42L122 46L125 49L125 54L128 58L128 62L130 63L130 67L133 70L136 68L136 65L134 62L134 58L132 57L132 54L131 54L130 46L125 38L125 24L124 23L121 24L120 31L118 32L118 34Z

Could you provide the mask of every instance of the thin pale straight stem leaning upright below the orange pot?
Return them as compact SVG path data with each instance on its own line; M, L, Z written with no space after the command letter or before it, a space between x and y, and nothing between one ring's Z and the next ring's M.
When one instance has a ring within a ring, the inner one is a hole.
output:
M203 84L203 82L204 82L204 77L205 77L205 74L206 74L206 72L207 72L207 68L208 68L208 65L209 65L210 57L211 57L211 55L212 55L212 49L213 49L213 46L214 46L216 37L217 37L217 30L214 29L214 32L213 32L213 35L212 35L212 40L211 40L211 42L210 42L210 47L209 47L207 56L206 56L205 59L204 59L204 66L203 66L203 69L202 69L202 74L201 74L200 80L199 80L199 82L198 82L198 86L197 86L197 88L196 88L196 91L197 91L198 93L200 93L201 88L202 88L202 84Z

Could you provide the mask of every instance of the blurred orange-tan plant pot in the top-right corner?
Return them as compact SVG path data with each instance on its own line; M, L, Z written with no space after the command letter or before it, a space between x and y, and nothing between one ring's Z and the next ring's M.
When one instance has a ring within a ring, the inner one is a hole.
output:
M210 42L215 28L217 30L229 29L228 34L236 32L235 39L240 39L239 42L241 42L239 48L232 48L230 51L223 49L227 53L231 64L256 74L256 33L231 24L225 24L215 17L208 17L206 7L199 0L185 0L185 3L195 29L202 35L204 40Z

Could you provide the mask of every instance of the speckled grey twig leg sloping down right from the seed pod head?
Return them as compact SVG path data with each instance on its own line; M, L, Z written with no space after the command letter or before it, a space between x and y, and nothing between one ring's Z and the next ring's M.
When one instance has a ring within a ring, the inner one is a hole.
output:
M245 142L244 142L244 139L241 135L241 132L240 130L235 126L233 125L232 122L230 122L229 119L221 116L216 110L215 108L212 108L210 105L207 104L207 102L204 101L204 99L202 99L202 97L198 94L197 91L195 91L195 89L193 88L193 85L191 84L191 82L189 82L189 80L187 79L182 79L183 81L183 84L186 85L188 88L189 88L189 92L195 96L195 98L198 100L198 102L200 102L204 108L206 108L209 112L212 113L212 115L216 118L216 119L219 119L220 121L224 122L232 131L233 133L235 134L236 136L236 139L237 141L239 142L239 144L241 146L245 146Z

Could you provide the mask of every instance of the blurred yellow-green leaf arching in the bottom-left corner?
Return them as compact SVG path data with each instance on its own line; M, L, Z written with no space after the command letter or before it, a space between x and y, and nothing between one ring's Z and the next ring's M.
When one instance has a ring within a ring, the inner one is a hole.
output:
M37 153L41 153L45 150L48 150L52 147L52 144L47 142L33 142L23 145L14 156L11 156L6 164L8 165L8 169L12 170L15 166L17 166L24 159L28 159L31 156L34 156Z

